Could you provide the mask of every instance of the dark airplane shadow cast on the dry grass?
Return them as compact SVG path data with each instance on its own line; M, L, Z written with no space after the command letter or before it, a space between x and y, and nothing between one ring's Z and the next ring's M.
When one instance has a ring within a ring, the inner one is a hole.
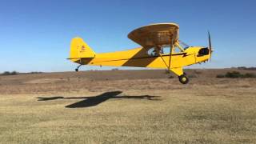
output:
M151 95L140 95L140 96L118 96L122 91L110 91L93 97L38 97L38 101L51 101L56 99L84 99L80 102L75 102L66 108L82 108L82 107L90 107L97 106L98 104L105 102L110 98L134 98L134 99L146 99L151 101L159 101L160 96L151 96Z

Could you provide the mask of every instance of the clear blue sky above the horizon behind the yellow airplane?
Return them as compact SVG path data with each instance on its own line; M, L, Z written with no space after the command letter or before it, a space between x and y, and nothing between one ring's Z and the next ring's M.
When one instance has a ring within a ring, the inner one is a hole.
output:
M124 50L138 46L127 38L131 30L155 22L178 23L190 46L207 46L210 30L212 62L193 68L256 66L255 7L253 0L2 0L0 72L74 70L66 60L71 38L82 37L96 53Z

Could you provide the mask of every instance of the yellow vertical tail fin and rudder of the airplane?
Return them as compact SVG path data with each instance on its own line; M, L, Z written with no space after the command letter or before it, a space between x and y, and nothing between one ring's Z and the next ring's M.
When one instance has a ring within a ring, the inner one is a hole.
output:
M82 38L73 38L70 45L70 60L77 61L80 58L94 58L94 50L82 40Z

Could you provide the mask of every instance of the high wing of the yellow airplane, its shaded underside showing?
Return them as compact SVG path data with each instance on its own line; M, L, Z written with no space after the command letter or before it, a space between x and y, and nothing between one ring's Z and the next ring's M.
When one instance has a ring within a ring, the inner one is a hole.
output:
M178 41L178 29L175 23L156 23L133 30L128 38L144 48L170 45Z

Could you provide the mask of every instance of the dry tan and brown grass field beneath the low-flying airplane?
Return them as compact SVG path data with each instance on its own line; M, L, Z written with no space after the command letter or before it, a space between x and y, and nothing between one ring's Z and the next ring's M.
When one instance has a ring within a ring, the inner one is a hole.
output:
M1 76L0 143L256 143L256 78L225 71Z

